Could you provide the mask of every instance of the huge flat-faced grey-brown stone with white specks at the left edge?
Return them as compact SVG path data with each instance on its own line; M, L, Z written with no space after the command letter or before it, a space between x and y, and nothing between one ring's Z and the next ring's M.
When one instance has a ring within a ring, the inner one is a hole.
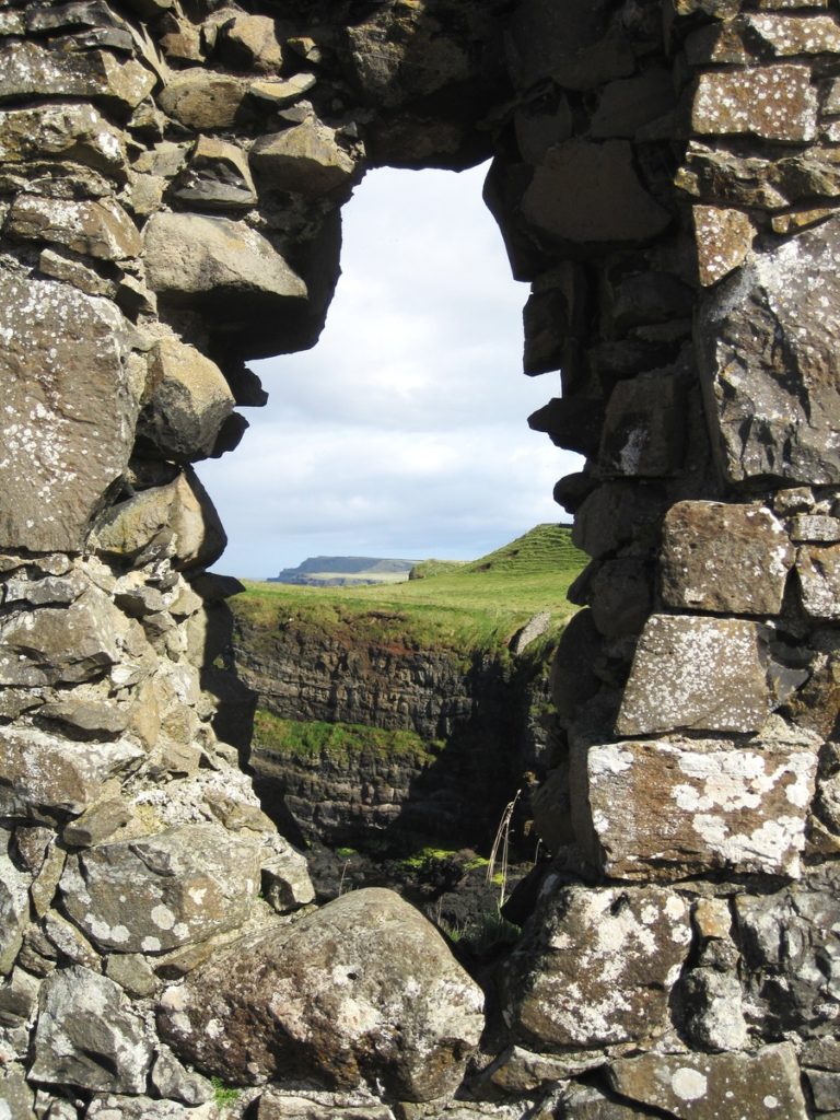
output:
M83 547L133 444L125 326L67 286L0 277L0 547Z

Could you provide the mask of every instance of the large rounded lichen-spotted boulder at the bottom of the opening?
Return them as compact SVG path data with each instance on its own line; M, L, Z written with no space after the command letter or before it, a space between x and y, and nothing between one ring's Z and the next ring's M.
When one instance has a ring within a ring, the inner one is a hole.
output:
M375 1071L403 1100L452 1089L483 1027L482 993L391 892L346 894L217 956L170 989L175 1052L242 1084L282 1071L353 1088Z

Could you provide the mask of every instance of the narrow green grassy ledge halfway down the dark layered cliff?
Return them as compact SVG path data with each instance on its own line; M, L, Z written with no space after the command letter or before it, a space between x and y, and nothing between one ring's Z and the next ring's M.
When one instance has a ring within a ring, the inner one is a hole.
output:
M389 731L358 724L325 724L320 720L281 719L258 708L254 713L253 747L263 758L311 758L327 756L346 762L363 755L405 758L422 765L436 757L439 744L428 744L414 731Z

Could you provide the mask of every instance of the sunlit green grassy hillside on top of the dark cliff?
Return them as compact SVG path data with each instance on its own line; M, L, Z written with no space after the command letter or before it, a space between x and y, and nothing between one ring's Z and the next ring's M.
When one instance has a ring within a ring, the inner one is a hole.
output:
M576 609L566 592L586 560L568 526L543 524L479 560L442 564L405 584L329 588L245 581L244 595L231 606L259 627L293 625L413 648L492 648L541 610L551 614L554 632L561 628Z

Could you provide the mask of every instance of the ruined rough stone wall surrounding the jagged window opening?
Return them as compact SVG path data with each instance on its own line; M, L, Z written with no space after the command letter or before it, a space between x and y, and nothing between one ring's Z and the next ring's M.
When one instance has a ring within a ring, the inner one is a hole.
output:
M0 1113L838 1112L838 59L818 0L0 0ZM489 155L592 563L479 1040L392 896L299 914L192 464L365 170Z

